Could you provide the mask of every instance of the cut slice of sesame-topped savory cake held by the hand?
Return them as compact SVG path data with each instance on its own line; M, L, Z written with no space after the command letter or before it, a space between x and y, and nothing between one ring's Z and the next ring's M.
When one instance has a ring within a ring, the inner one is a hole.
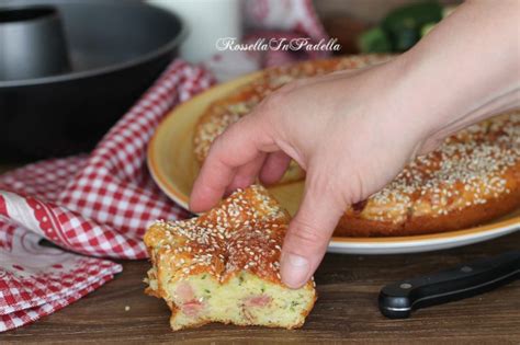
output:
M289 214L258 185L189 220L155 222L145 234L152 267L148 295L171 309L171 327L208 322L302 326L316 300L313 280L299 289L280 279Z

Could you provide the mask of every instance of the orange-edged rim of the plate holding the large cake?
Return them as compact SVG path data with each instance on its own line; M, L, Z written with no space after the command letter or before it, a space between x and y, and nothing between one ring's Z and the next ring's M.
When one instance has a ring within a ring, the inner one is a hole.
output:
M231 80L229 82L225 82L222 84L214 85L197 95L193 96L192 99L179 104L173 110L171 110L159 123L154 135L151 136L148 148L147 148L147 165L148 171L151 174L151 177L155 180L159 188L173 202L176 202L179 206L183 207L184 209L189 210L189 196L183 195L178 188L172 185L168 179L165 176L165 172L161 171L159 164L157 163L156 151L154 148L157 145L158 137L160 136L161 131L163 130L165 124L168 122L172 122L176 115L182 114L182 110L186 107L191 102L196 102L200 99L204 99L207 94L212 92L217 92L218 89L223 89L224 87L229 87L229 83L240 84L249 79L258 78L262 74L262 71L257 71L253 73L246 74L238 79ZM400 237L332 237L330 239L330 243L335 244L357 244L357 245L368 245L373 248L374 245L382 245L382 246L394 246L394 245L406 245L406 244L419 244L419 243L432 243L439 242L442 243L443 241L454 241L456 239L471 239L478 235L485 235L488 233L493 233L495 231L510 231L515 226L517 226L517 230L520 230L520 215L516 216L511 219L501 220L498 222L483 225L477 227L472 227L468 229L461 229L454 231L444 231L444 232L436 232L436 233L425 233L425 234L414 234L414 235L400 235ZM515 229L512 229L515 231Z

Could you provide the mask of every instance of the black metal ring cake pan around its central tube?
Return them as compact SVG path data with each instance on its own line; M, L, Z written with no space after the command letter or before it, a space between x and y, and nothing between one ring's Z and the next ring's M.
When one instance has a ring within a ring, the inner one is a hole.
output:
M0 162L92 149L177 55L184 26L137 1L8 0L2 7L55 5L70 70L0 80Z

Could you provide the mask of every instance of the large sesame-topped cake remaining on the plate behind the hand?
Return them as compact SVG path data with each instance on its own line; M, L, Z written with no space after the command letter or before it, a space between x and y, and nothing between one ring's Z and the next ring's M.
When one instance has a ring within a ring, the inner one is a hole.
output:
M211 104L199 119L199 162L227 126L281 85L302 77L355 69L391 56L306 61L268 69L256 81ZM473 227L520 208L520 111L501 114L446 138L416 158L386 187L346 210L336 235L407 235ZM292 161L280 183L302 181Z

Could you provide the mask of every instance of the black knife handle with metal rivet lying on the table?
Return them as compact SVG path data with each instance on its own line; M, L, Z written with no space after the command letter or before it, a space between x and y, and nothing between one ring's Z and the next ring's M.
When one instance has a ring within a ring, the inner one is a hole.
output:
M475 296L519 277L520 250L515 250L387 285L380 292L380 310L389 319L406 319L411 310Z

